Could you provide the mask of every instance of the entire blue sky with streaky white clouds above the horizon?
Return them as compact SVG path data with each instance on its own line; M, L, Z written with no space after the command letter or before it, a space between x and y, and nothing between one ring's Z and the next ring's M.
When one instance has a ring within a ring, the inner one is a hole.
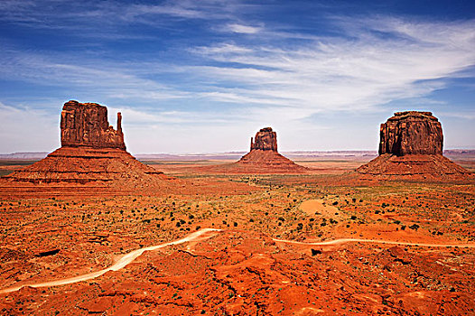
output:
M376 150L408 109L475 148L475 2L0 1L0 153L59 147L70 99L132 153Z

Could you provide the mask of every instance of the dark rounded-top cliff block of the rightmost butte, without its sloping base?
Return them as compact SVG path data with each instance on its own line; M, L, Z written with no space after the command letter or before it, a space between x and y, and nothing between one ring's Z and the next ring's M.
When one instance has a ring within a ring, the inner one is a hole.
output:
M381 124L379 154L441 154L442 125L431 112L396 112Z

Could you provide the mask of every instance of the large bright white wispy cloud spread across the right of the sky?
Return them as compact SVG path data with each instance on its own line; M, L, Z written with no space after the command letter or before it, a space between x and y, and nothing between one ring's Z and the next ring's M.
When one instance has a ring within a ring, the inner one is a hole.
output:
M203 77L239 87L237 102L298 107L307 114L375 108L426 96L475 64L475 23L411 23L394 18L340 22L348 37L304 46L219 44L200 48L221 65L195 67ZM346 24L348 23L348 24ZM355 31L357 30L357 31ZM374 32L385 32L386 36ZM240 67L236 67L240 65ZM227 95L219 88L219 95ZM228 88L236 96L236 88Z

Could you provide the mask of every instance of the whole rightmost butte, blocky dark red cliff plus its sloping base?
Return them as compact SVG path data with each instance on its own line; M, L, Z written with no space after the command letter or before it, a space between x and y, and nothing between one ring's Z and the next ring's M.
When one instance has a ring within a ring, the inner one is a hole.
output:
M463 179L471 172L442 155L442 125L431 112L405 111L381 124L379 156L356 171L405 179Z

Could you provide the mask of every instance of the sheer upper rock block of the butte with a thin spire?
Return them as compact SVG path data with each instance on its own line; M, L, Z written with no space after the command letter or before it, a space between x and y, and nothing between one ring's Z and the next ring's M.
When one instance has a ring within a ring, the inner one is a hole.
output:
M126 150L122 115L117 113L115 130L107 121L107 107L74 100L66 102L61 112L61 146Z

